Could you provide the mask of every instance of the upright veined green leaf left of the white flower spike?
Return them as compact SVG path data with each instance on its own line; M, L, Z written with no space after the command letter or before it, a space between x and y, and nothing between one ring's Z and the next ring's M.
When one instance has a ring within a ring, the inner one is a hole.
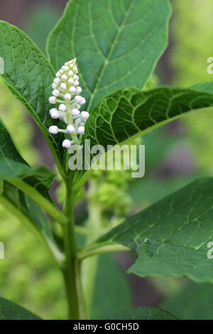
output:
M48 97L55 77L52 65L25 33L4 21L0 21L0 57L4 59L2 79L40 127L63 173L62 136L56 136L55 140L47 129L53 124L48 112L51 108Z

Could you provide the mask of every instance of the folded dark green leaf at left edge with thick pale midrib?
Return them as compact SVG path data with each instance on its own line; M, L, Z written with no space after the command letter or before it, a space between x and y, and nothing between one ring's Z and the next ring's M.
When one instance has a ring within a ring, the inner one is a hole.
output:
M1 122L0 178L9 181L9 183L33 198L56 221L65 223L65 216L52 203L48 193L54 174L43 166L31 168L18 153L9 132Z

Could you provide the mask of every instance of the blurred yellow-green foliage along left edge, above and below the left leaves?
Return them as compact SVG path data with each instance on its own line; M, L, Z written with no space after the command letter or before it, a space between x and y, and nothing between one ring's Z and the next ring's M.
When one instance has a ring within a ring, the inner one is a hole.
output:
M0 82L0 117L28 163L38 161L31 146L33 127L26 110ZM31 232L0 205L0 240L5 259L0 260L0 296L25 306L44 318L64 318L62 276Z

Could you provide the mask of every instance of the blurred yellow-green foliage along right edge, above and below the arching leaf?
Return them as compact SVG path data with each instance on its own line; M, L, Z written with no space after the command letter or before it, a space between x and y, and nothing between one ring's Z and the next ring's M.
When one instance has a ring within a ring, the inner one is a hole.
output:
M173 84L190 86L213 80L207 74L207 58L212 57L212 0L174 0L171 36ZM200 169L213 172L213 114L191 114L182 119L187 129L192 151Z

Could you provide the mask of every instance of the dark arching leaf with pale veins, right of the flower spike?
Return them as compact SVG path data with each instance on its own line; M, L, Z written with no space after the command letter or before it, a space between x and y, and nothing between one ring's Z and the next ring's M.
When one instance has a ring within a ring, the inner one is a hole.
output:
M213 106L213 95L187 88L158 87L141 92L125 87L104 97L85 126L85 139L95 144L122 144L182 114ZM213 108L211 108L213 111Z

